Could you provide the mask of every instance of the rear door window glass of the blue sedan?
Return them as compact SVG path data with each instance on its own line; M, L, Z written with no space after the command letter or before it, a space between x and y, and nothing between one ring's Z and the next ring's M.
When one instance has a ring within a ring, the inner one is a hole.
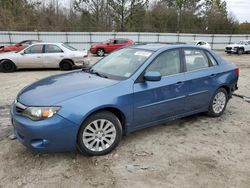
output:
M203 50L184 49L187 71L195 71L209 67L209 62Z

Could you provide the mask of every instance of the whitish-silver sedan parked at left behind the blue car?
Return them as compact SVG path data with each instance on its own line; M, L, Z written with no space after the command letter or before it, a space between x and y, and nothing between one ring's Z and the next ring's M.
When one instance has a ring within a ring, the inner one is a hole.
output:
M37 43L19 52L0 54L0 68L3 72L20 68L71 70L74 66L85 66L87 56L87 50L78 51L64 43Z

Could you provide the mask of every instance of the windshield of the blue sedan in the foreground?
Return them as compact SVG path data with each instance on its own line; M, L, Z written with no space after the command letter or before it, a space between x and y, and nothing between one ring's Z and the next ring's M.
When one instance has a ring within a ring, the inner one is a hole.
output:
M125 48L111 53L91 68L108 78L124 80L129 78L152 54L151 51Z

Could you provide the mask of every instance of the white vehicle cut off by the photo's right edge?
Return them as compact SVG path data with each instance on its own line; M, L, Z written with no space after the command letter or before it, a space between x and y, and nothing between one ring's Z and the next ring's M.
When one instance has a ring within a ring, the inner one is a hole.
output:
M225 52L230 53L237 53L239 55L243 53L250 52L250 40L241 40L236 44L230 44L226 47Z

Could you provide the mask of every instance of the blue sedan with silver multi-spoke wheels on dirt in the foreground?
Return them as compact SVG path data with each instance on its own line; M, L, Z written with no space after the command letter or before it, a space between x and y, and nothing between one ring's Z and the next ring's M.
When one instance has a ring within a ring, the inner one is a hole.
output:
M208 49L131 46L25 87L12 124L32 150L104 155L133 131L201 112L221 116L238 77L234 64Z

